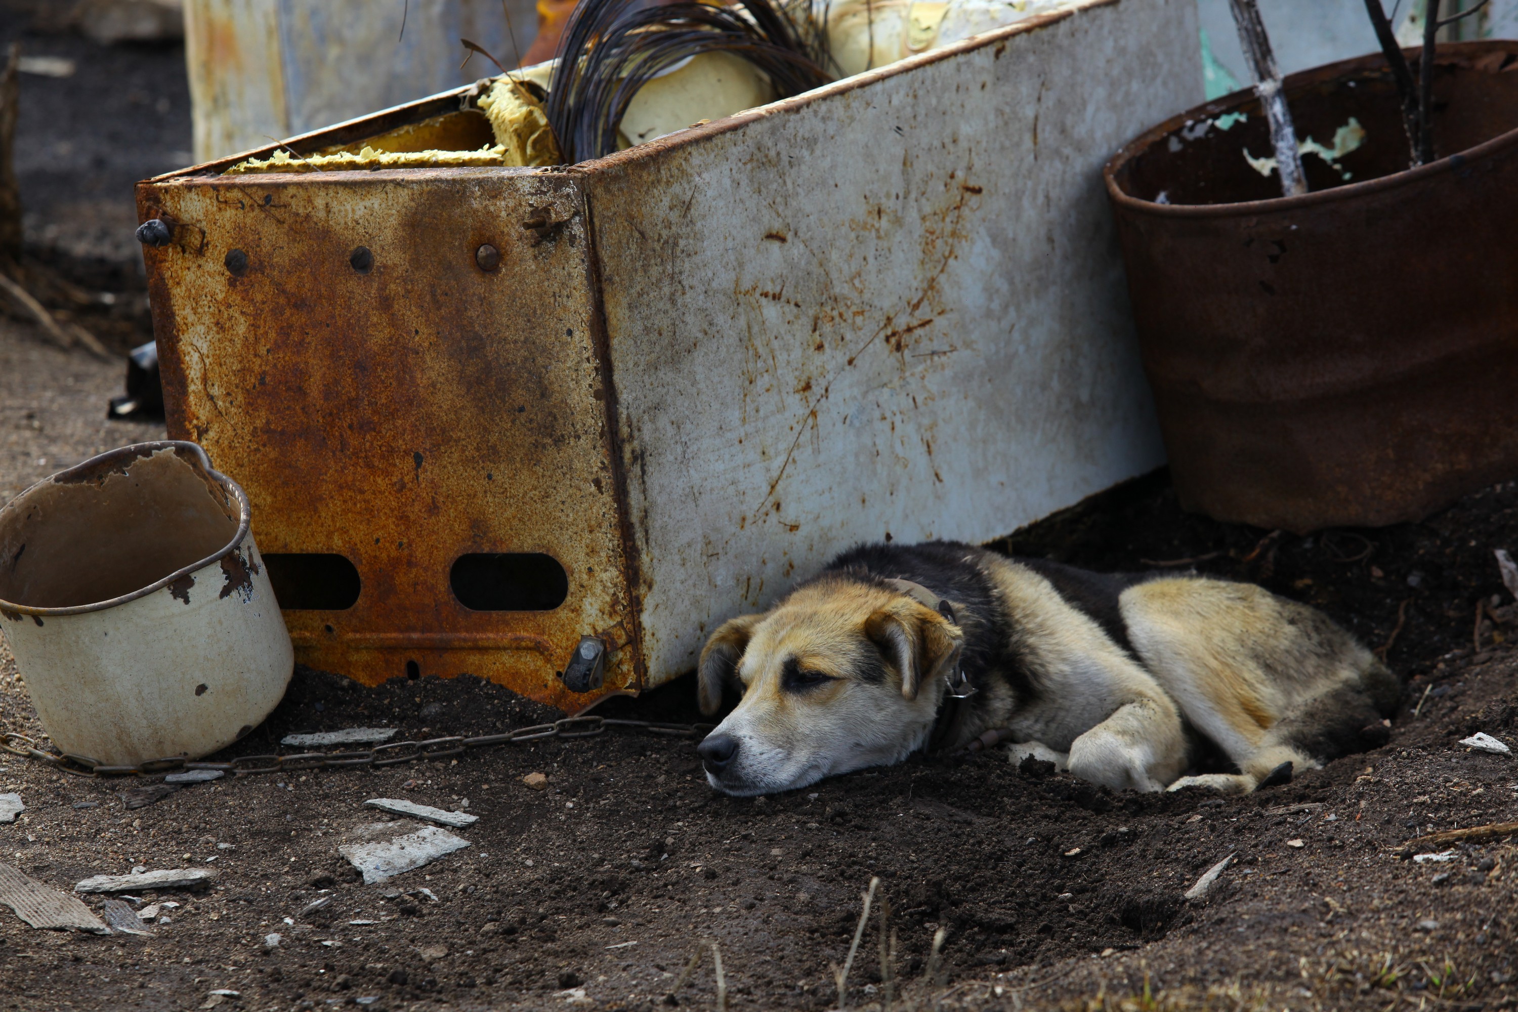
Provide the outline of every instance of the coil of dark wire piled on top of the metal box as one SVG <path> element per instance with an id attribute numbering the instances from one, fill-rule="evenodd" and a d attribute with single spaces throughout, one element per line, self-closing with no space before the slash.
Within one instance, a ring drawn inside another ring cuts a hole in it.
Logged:
<path id="1" fill-rule="evenodd" d="M 679 0 L 580 0 L 559 42 L 548 123 L 572 164 L 616 150 L 616 130 L 648 80 L 701 53 L 733 53 L 786 99 L 832 80 L 818 64 L 821 32 L 798 26 L 776 0 L 716 6 Z"/>

